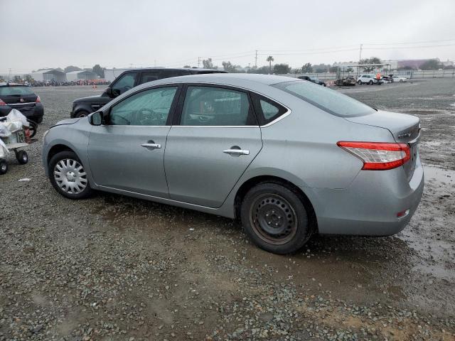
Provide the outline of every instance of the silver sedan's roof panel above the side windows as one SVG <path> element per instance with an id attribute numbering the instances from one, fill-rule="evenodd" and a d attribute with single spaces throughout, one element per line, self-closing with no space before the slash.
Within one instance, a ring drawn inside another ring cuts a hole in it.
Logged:
<path id="1" fill-rule="evenodd" d="M 273 85 L 283 82 L 302 82 L 298 78 L 276 75 L 258 75 L 251 73 L 210 73 L 201 75 L 188 75 L 178 76 L 171 78 L 164 78 L 162 80 L 155 80 L 153 82 L 144 83 L 139 87 L 146 87 L 149 85 L 160 85 L 168 83 L 215 83 L 219 85 L 233 85 L 233 86 L 247 86 L 254 83 L 261 85 Z"/>

